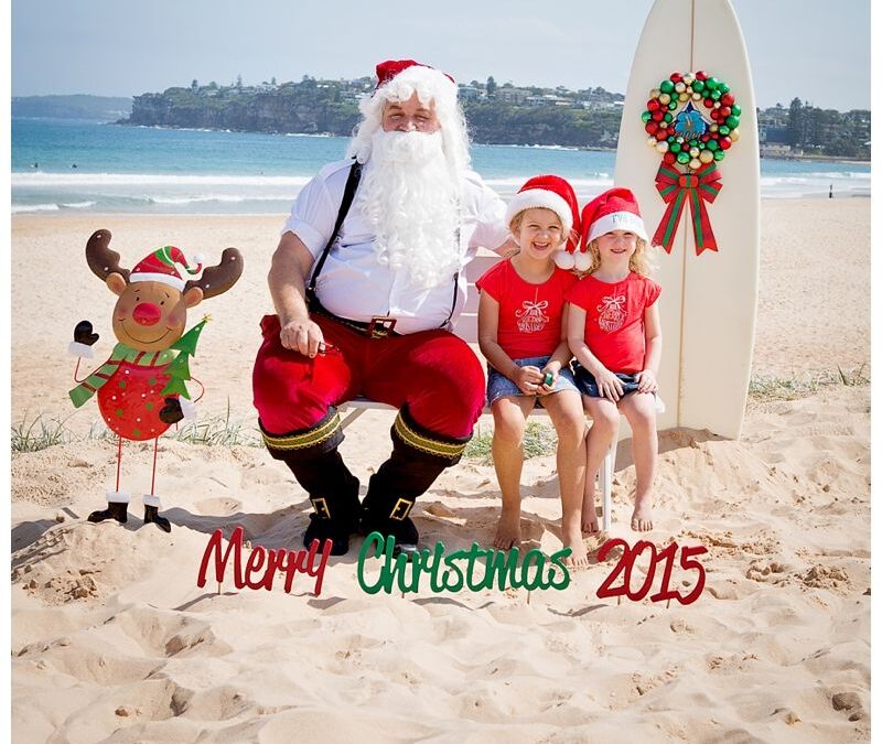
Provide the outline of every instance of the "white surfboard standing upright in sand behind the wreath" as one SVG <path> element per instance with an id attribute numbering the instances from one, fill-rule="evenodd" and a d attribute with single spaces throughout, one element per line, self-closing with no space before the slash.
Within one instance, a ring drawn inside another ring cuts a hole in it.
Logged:
<path id="1" fill-rule="evenodd" d="M 699 71 L 728 84 L 741 115 L 738 141 L 716 163 L 722 187 L 713 203 L 704 202 L 718 250 L 696 255 L 687 206 L 670 254 L 659 250 L 656 256 L 654 278 L 662 284 L 664 343 L 659 387 L 667 407 L 659 414 L 659 429 L 708 429 L 736 439 L 744 418 L 756 322 L 760 145 L 747 54 L 729 0 L 656 0 L 631 68 L 615 184 L 634 192 L 652 237 L 667 208 L 655 184 L 663 154 L 647 144 L 650 134 L 641 117 L 650 91 L 671 73 Z M 692 104 L 706 122 L 717 123 L 703 99 Z M 685 106 L 678 101 L 671 115 L 676 117 Z M 677 168 L 696 173 L 688 164 Z"/>

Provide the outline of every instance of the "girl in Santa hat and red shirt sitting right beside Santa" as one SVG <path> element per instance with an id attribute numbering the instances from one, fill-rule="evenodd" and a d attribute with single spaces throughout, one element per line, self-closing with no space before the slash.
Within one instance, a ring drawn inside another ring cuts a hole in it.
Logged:
<path id="1" fill-rule="evenodd" d="M 584 414 L 569 368 L 566 337 L 568 290 L 577 278 L 555 265 L 559 251 L 578 245 L 579 205 L 572 186 L 556 175 L 527 181 L 508 205 L 506 219 L 520 251 L 499 261 L 477 282 L 477 336 L 487 365 L 493 412 L 493 464 L 503 509 L 493 544 L 520 543 L 520 473 L 524 430 L 535 406 L 544 406 L 558 434 L 557 466 L 563 546 L 570 564 L 588 565 L 582 541 Z"/>

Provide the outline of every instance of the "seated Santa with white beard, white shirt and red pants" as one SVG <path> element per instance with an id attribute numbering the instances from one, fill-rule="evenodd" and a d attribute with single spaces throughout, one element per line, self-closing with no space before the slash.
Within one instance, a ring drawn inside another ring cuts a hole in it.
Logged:
<path id="1" fill-rule="evenodd" d="M 505 204 L 470 169 L 453 79 L 412 60 L 380 63 L 377 77 L 352 159 L 323 168 L 291 208 L 254 369 L 267 449 L 314 509 L 303 542 L 331 540 L 333 554 L 359 529 L 417 549 L 416 499 L 459 462 L 484 405 L 481 364 L 450 333 L 463 269 L 478 247 L 514 248 Z M 336 409 L 358 395 L 399 409 L 361 504 Z"/>

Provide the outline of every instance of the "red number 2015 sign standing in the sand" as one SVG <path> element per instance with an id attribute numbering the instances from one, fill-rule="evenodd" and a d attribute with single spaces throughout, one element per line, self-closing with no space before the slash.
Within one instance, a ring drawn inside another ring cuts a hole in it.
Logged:
<path id="1" fill-rule="evenodd" d="M 619 562 L 613 567 L 610 575 L 604 579 L 603 583 L 598 590 L 598 599 L 605 599 L 610 596 L 626 596 L 628 600 L 639 602 L 643 600 L 653 587 L 653 580 L 655 579 L 655 569 L 658 563 L 664 563 L 664 572 L 662 574 L 662 586 L 659 591 L 649 597 L 650 602 L 664 602 L 665 600 L 676 600 L 680 604 L 691 604 L 695 602 L 704 589 L 704 567 L 696 560 L 696 556 L 701 556 L 708 552 L 703 546 L 684 546 L 680 548 L 676 542 L 671 542 L 663 550 L 657 550 L 656 547 L 647 540 L 638 540 L 634 546 L 630 546 L 622 538 L 615 538 L 604 542 L 598 551 L 598 562 L 602 563 L 606 556 L 610 554 L 615 548 L 622 548 L 623 553 L 619 558 Z M 634 569 L 634 563 L 644 553 L 649 551 L 649 567 L 646 570 L 646 578 L 643 584 L 633 591 L 631 587 L 631 574 Z M 680 551 L 680 568 L 684 571 L 697 571 L 698 579 L 695 589 L 684 596 L 677 590 L 670 589 L 670 575 L 674 572 L 674 563 L 676 561 L 677 551 Z M 619 575 L 622 574 L 622 583 L 619 586 L 613 586 Z"/>

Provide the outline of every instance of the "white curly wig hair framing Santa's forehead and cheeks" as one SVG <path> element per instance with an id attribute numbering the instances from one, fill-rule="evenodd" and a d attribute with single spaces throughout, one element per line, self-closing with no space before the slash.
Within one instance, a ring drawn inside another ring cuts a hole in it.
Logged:
<path id="1" fill-rule="evenodd" d="M 411 61 L 407 61 L 411 62 Z M 378 71 L 380 67 L 378 66 Z M 388 103 L 404 103 L 417 94 L 420 103 L 434 107 L 441 125 L 444 158 L 453 173 L 460 175 L 471 162 L 465 116 L 456 99 L 456 84 L 444 73 L 419 63 L 394 73 L 388 79 L 380 75 L 377 89 L 358 105 L 362 122 L 355 130 L 348 155 L 359 163 L 370 157 L 374 134 L 383 128 L 383 111 Z"/>

